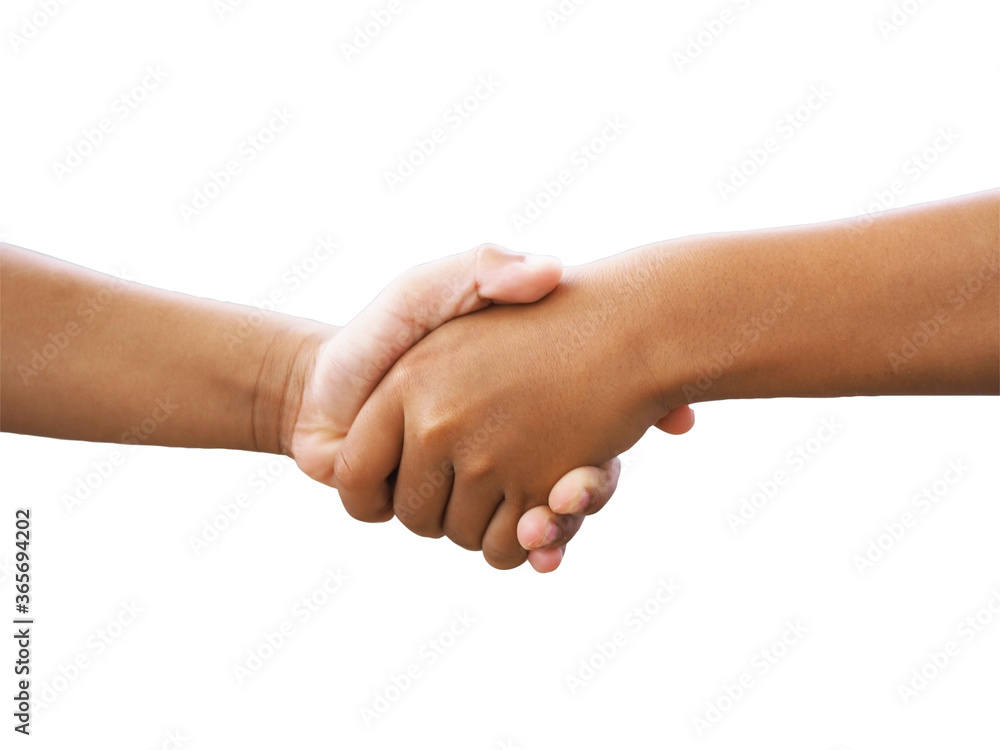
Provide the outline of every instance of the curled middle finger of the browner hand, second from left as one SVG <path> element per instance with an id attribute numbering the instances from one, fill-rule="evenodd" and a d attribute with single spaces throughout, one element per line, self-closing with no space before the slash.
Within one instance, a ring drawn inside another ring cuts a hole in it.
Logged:
<path id="1" fill-rule="evenodd" d="M 392 508 L 403 525 L 419 536 L 444 536 L 444 511 L 455 469 L 435 458 L 418 438 L 404 440 Z"/>

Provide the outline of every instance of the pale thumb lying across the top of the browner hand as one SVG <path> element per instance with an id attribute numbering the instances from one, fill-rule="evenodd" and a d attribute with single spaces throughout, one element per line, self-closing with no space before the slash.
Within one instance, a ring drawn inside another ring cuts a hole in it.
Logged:
<path id="1" fill-rule="evenodd" d="M 375 386 L 410 347 L 452 318 L 492 302 L 535 302 L 562 278 L 557 258 L 480 245 L 412 268 L 389 284 L 330 342 L 350 393 L 331 416 L 350 424 Z"/>

